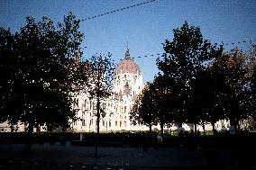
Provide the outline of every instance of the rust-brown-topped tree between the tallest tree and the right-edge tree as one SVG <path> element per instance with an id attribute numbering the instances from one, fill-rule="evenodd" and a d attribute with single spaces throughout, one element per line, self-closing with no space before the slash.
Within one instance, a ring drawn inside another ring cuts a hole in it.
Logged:
<path id="1" fill-rule="evenodd" d="M 224 108 L 225 117 L 230 120 L 231 125 L 238 131 L 239 121 L 246 118 L 250 103 L 247 92 L 248 70 L 246 69 L 245 55 L 240 49 L 232 49 L 215 59 L 214 69 L 219 76 L 223 77 L 223 98 L 220 98 Z"/>

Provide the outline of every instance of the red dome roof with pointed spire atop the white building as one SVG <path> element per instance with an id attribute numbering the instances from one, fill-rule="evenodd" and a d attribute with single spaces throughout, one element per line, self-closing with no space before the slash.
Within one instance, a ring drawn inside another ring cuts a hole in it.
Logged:
<path id="1" fill-rule="evenodd" d="M 141 74 L 140 67 L 130 58 L 129 49 L 125 52 L 125 58 L 118 64 L 115 69 L 115 74 L 120 73 L 133 73 L 133 74 Z"/>

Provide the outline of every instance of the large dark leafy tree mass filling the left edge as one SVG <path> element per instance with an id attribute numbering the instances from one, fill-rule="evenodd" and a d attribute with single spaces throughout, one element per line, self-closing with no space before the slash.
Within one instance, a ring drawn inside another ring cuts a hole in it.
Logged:
<path id="1" fill-rule="evenodd" d="M 14 34 L 0 28 L 0 121 L 22 121 L 30 133 L 39 125 L 69 128 L 75 117 L 73 87 L 87 82 L 85 76 L 80 79 L 81 68 L 73 59 L 81 55 L 83 33 L 78 28 L 72 13 L 57 26 L 47 17 L 41 22 L 27 17 L 26 25 Z"/>

